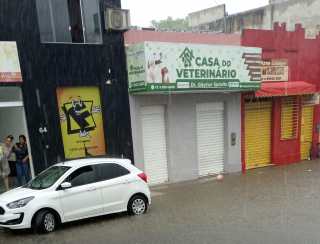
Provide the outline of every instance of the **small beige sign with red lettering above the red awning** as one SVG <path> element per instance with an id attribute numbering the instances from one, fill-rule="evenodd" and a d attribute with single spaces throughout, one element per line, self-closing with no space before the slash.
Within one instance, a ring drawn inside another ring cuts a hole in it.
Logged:
<path id="1" fill-rule="evenodd" d="M 262 61 L 262 81 L 288 81 L 289 67 L 287 59 Z"/>

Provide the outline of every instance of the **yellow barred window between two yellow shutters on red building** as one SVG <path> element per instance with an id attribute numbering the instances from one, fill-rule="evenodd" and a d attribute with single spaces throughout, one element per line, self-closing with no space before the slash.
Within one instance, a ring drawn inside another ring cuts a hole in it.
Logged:
<path id="1" fill-rule="evenodd" d="M 297 138 L 299 104 L 297 97 L 281 99 L 281 140 Z"/>

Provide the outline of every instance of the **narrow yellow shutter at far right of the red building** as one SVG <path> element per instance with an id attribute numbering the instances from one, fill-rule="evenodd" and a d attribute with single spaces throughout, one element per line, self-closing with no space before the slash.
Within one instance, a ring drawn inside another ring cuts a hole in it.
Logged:
<path id="1" fill-rule="evenodd" d="M 300 139 L 301 160 L 306 160 L 310 158 L 310 151 L 312 148 L 314 104 L 310 103 L 309 100 L 310 97 L 308 96 L 303 97 L 302 100 Z"/>

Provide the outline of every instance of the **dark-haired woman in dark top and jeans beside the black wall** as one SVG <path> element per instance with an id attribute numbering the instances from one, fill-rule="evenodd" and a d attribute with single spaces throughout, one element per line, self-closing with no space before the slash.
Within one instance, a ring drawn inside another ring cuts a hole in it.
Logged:
<path id="1" fill-rule="evenodd" d="M 16 154 L 16 170 L 18 183 L 20 186 L 22 186 L 30 180 L 29 153 L 27 139 L 24 135 L 19 136 L 19 143 L 14 146 L 13 151 Z"/>

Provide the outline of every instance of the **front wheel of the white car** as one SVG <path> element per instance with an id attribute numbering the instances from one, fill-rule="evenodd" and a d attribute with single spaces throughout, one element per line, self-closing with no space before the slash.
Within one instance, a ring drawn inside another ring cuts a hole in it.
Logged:
<path id="1" fill-rule="evenodd" d="M 37 233 L 50 233 L 56 229 L 57 219 L 49 210 L 41 210 L 34 219 L 33 229 Z"/>

